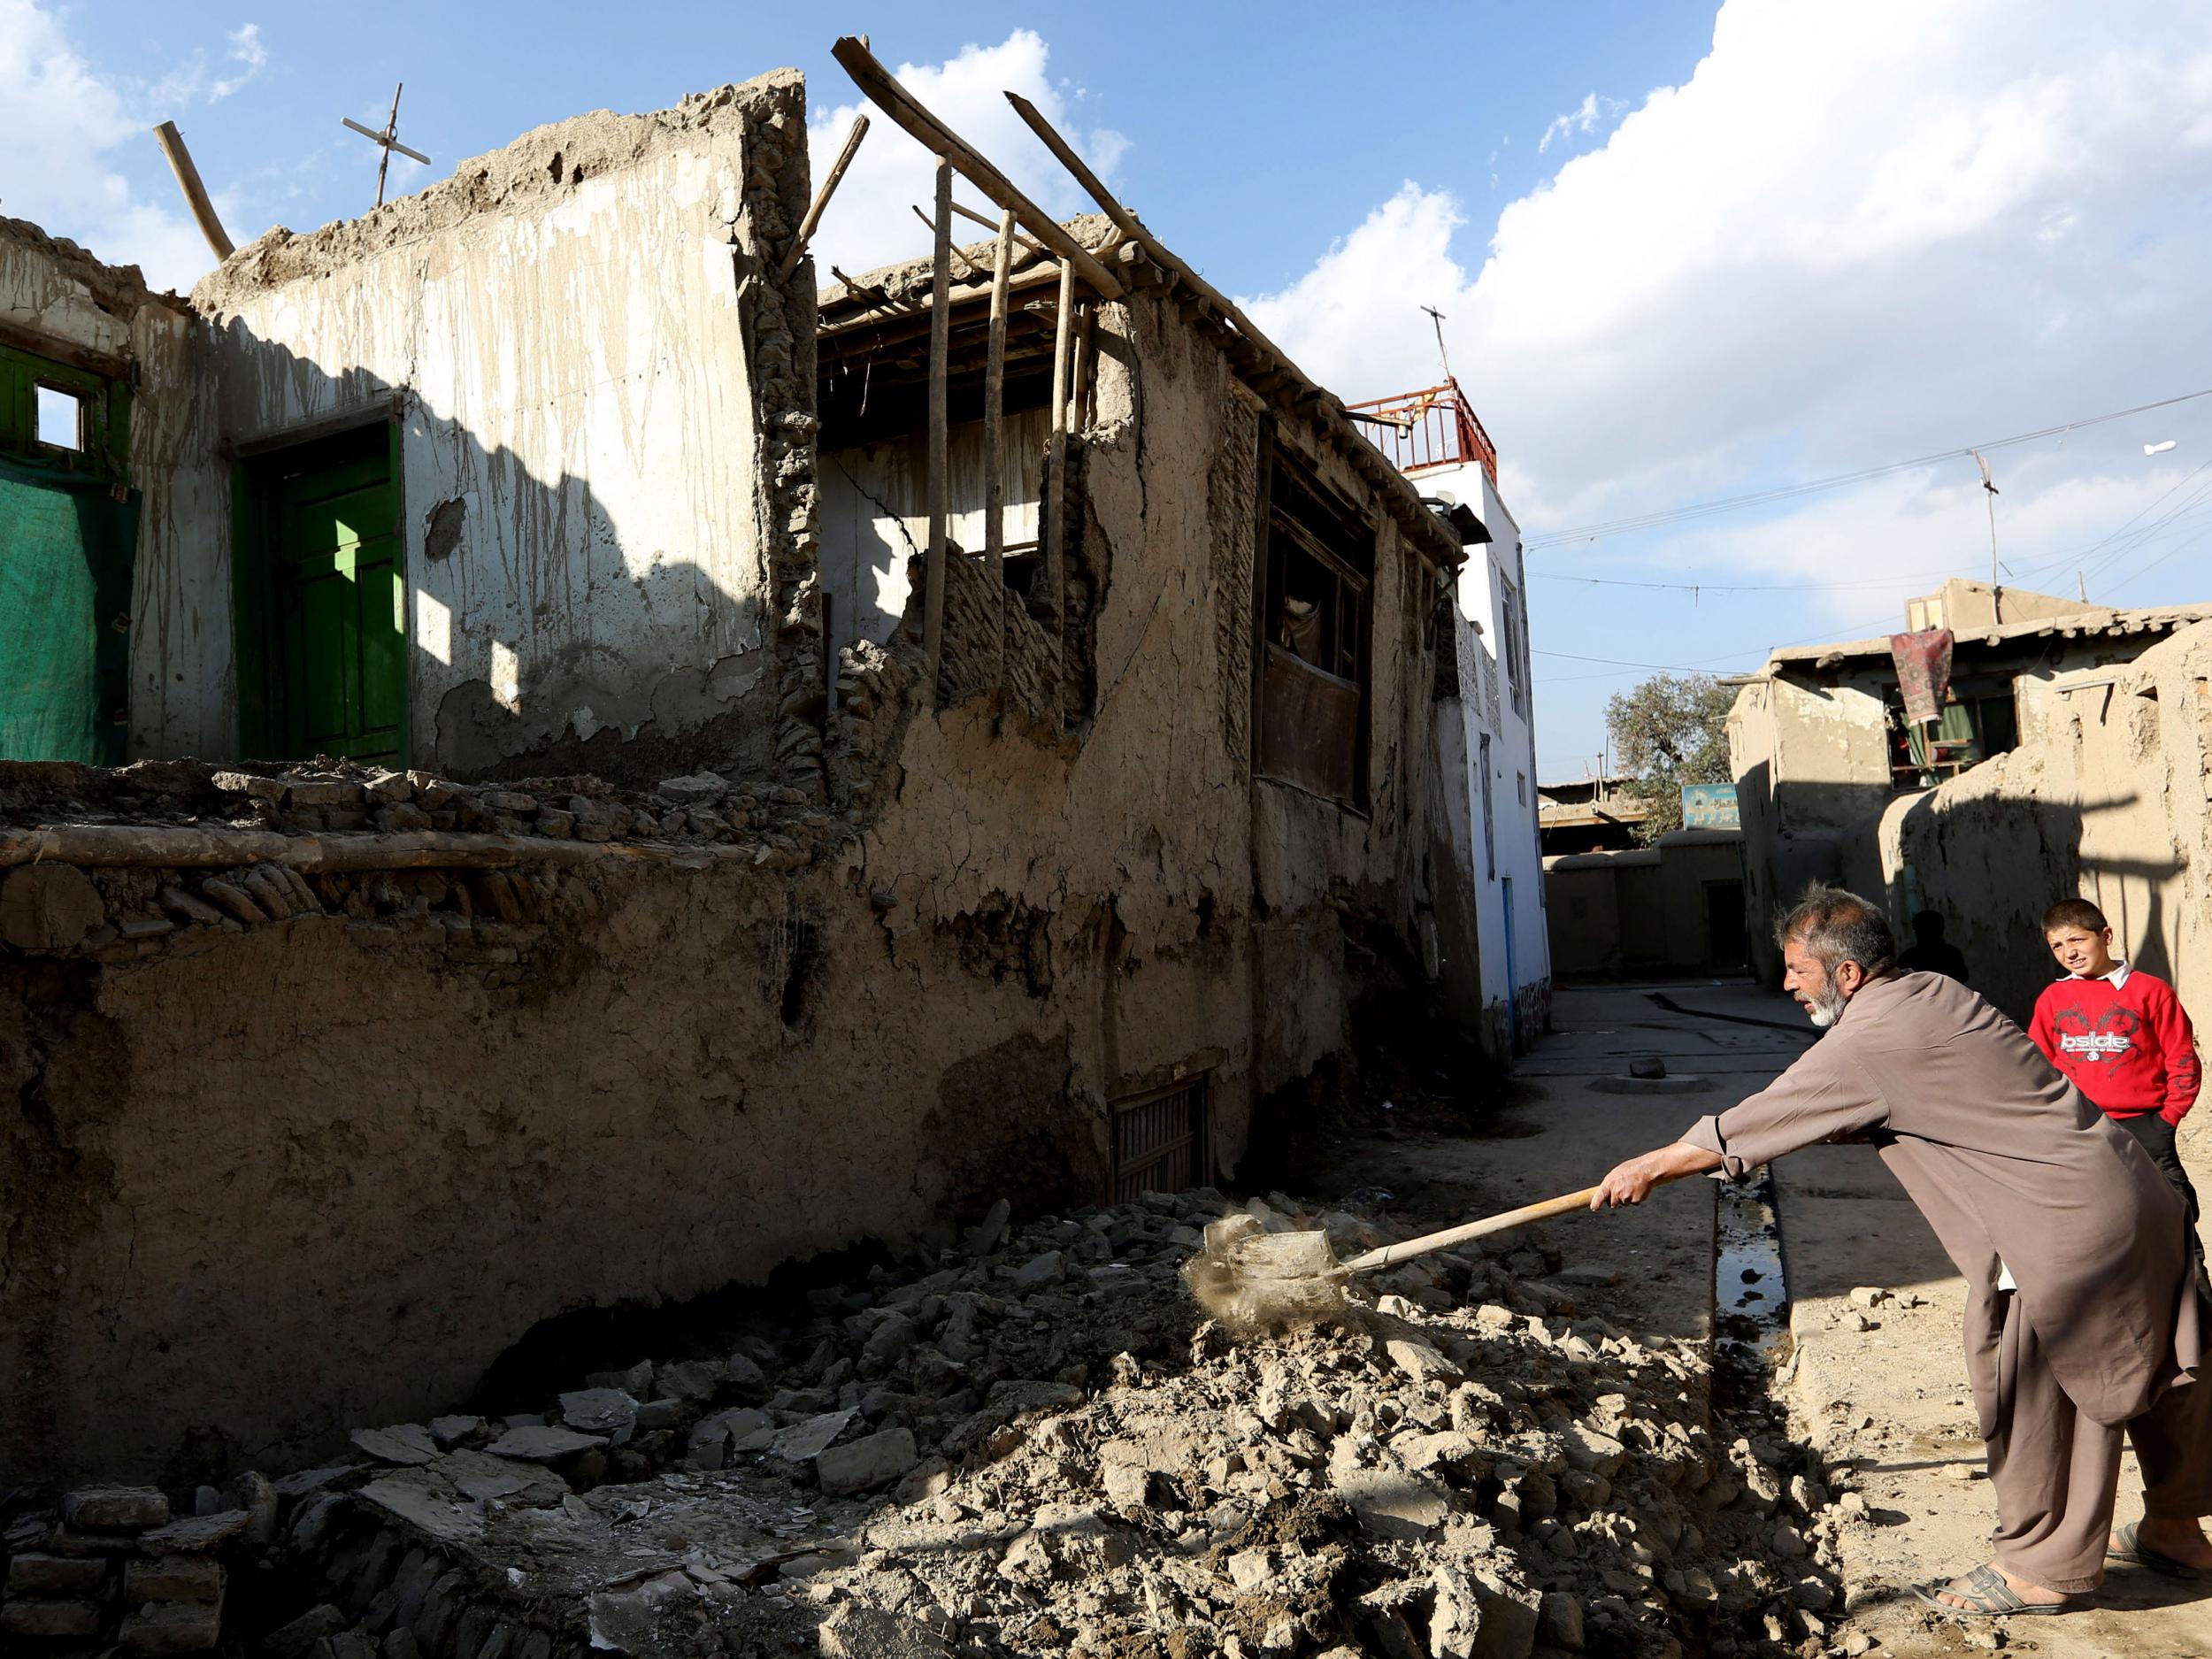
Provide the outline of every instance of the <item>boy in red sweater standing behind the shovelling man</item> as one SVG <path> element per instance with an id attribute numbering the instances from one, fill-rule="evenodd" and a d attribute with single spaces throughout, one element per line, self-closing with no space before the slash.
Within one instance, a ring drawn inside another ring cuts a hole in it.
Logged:
<path id="1" fill-rule="evenodd" d="M 2197 1033 L 2166 980 L 2112 960 L 2112 927 L 2086 898 L 2044 911 L 2044 940 L 2068 978 L 2035 998 L 2028 1035 L 2106 1117 L 2141 1141 L 2190 1206 L 2197 1188 L 2174 1128 L 2197 1104 Z"/>

